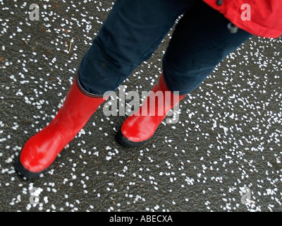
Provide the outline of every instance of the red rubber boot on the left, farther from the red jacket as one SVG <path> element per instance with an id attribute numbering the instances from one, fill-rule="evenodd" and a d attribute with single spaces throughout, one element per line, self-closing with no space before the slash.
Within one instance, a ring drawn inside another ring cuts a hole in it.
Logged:
<path id="1" fill-rule="evenodd" d="M 102 96 L 82 90 L 76 76 L 56 117 L 25 143 L 16 162 L 16 171 L 27 179 L 38 177 L 75 138 L 103 102 Z"/>

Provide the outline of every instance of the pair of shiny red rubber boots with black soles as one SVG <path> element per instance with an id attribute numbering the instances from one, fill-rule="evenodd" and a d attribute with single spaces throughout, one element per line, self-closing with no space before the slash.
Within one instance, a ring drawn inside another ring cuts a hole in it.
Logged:
<path id="1" fill-rule="evenodd" d="M 184 97 L 168 90 L 163 75 L 152 91 L 142 106 L 125 119 L 121 130 L 116 133 L 118 143 L 125 147 L 142 145 L 151 138 L 169 110 Z M 157 92 L 166 93 L 163 95 L 164 100 L 153 98 Z M 85 92 L 76 76 L 56 117 L 25 143 L 16 161 L 16 172 L 27 179 L 39 177 L 104 101 L 103 96 Z"/>

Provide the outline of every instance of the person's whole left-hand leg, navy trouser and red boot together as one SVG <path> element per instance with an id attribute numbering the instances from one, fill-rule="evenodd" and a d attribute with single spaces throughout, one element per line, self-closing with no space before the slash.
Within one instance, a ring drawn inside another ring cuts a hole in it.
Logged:
<path id="1" fill-rule="evenodd" d="M 194 0 L 118 0 L 80 64 L 63 107 L 21 151 L 16 171 L 38 177 L 87 123 L 106 91 L 115 90 L 157 49 Z"/>

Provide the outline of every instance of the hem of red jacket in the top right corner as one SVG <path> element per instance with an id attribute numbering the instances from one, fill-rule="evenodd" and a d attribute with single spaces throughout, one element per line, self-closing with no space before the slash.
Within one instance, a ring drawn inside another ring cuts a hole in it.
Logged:
<path id="1" fill-rule="evenodd" d="M 238 28 L 261 37 L 282 34 L 282 0 L 203 0 Z"/>

